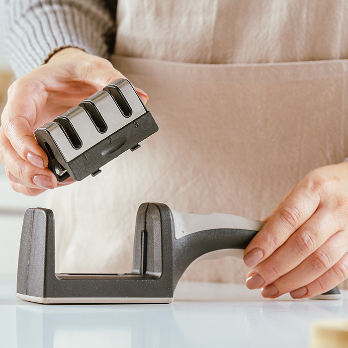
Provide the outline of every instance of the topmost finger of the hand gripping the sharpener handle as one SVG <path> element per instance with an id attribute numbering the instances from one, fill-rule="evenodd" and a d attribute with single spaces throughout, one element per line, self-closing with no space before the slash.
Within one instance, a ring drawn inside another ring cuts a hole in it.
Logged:
<path id="1" fill-rule="evenodd" d="M 271 255 L 314 214 L 319 203 L 317 192 L 309 194 L 304 183 L 296 186 L 246 248 L 245 264 L 252 267 Z"/>

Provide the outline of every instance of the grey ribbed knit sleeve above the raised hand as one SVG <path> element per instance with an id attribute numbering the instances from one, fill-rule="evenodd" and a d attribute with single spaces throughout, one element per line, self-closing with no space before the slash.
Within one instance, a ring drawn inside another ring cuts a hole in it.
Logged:
<path id="1" fill-rule="evenodd" d="M 113 9 L 112 0 L 6 0 L 5 45 L 16 77 L 64 47 L 107 57 Z"/>

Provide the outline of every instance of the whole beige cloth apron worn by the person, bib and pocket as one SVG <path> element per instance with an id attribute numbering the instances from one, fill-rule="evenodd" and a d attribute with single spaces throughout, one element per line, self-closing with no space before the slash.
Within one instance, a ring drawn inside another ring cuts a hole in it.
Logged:
<path id="1" fill-rule="evenodd" d="M 50 192 L 57 271 L 129 272 L 143 202 L 262 219 L 309 171 L 343 161 L 347 11 L 343 0 L 119 0 L 112 63 L 149 94 L 160 130 Z M 224 258 L 184 278 L 246 273 Z"/>

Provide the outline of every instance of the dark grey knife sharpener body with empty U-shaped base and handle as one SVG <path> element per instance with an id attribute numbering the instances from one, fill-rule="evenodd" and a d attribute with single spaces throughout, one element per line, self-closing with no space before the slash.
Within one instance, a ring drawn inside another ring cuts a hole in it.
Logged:
<path id="1" fill-rule="evenodd" d="M 202 259 L 243 258 L 263 223 L 240 216 L 187 214 L 162 203 L 143 203 L 136 220 L 129 274 L 55 272 L 54 215 L 30 208 L 24 215 L 17 292 L 22 300 L 56 303 L 170 303 L 184 271 Z M 321 295 L 340 298 L 338 288 Z"/>

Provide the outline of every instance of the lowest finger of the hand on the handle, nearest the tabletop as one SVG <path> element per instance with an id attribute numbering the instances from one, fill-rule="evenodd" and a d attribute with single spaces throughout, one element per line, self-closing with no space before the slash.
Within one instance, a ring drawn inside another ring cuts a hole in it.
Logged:
<path id="1" fill-rule="evenodd" d="M 290 292 L 293 298 L 312 297 L 327 291 L 330 291 L 335 286 L 348 278 L 348 254 L 340 261 L 331 267 L 322 276 L 309 283 L 306 286 L 300 287 Z"/>

